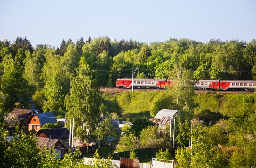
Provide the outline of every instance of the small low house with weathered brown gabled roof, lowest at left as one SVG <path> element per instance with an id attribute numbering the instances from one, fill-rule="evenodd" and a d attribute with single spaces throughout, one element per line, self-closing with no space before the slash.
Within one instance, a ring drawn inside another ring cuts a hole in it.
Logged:
<path id="1" fill-rule="evenodd" d="M 50 149 L 49 138 L 38 137 L 37 140 L 37 145 L 39 148 L 44 148 L 46 146 L 47 149 Z M 51 147 L 54 147 L 53 149 L 56 151 L 56 153 L 58 153 L 57 158 L 62 158 L 64 156 L 65 146 L 60 140 L 51 138 Z"/>

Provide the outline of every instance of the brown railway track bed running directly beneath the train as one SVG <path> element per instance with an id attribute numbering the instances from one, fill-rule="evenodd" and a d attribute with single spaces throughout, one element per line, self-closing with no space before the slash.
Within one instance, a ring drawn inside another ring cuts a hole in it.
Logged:
<path id="1" fill-rule="evenodd" d="M 122 92 L 129 92 L 132 91 L 130 88 L 107 88 L 108 93 L 122 93 Z M 100 87 L 101 92 L 106 91 L 106 87 Z M 140 91 L 140 92 L 153 92 L 153 91 L 164 91 L 164 89 L 134 89 L 134 91 Z M 252 94 L 254 92 L 252 91 L 226 91 L 226 90 L 195 90 L 196 93 L 246 93 L 246 94 Z"/>

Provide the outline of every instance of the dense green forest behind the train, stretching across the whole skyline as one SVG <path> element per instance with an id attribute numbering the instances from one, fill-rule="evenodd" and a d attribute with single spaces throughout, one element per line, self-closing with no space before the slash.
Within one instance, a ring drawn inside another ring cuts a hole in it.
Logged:
<path id="1" fill-rule="evenodd" d="M 140 78 L 167 78 L 174 64 L 192 70 L 196 79 L 256 78 L 256 45 L 251 42 L 212 39 L 207 43 L 170 38 L 149 45 L 135 40 L 111 41 L 109 37 L 63 41 L 60 47 L 33 47 L 17 37 L 12 44 L 0 41 L 1 111 L 29 106 L 64 111 L 64 98 L 81 61 L 94 72 L 98 86 L 114 86 L 119 77 L 132 77 L 132 66 L 140 67 Z M 18 99 L 19 98 L 19 99 Z"/>

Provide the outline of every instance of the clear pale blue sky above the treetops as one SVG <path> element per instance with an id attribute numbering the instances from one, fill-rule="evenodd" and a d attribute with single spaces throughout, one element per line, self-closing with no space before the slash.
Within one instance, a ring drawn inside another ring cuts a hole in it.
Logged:
<path id="1" fill-rule="evenodd" d="M 34 47 L 89 35 L 148 44 L 256 38 L 255 0 L 0 0 L 0 16 L 0 40 L 26 36 Z"/>

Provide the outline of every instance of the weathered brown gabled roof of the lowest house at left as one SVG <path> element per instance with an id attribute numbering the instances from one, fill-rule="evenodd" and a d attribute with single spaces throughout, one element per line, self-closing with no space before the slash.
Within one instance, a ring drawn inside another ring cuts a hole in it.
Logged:
<path id="1" fill-rule="evenodd" d="M 50 144 L 49 144 L 49 138 L 42 138 L 42 137 L 38 137 L 37 138 L 38 142 L 37 145 L 39 148 L 44 148 L 44 146 L 47 147 L 47 149 L 50 148 Z M 60 140 L 57 139 L 51 139 L 51 146 L 54 146 L 54 149 L 65 149 L 65 146 L 63 145 L 63 143 L 61 143 Z"/>

